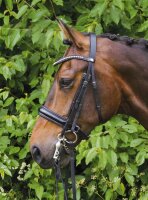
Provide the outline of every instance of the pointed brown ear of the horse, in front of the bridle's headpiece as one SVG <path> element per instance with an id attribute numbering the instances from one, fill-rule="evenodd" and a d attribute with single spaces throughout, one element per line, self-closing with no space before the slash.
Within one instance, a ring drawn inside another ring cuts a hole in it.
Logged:
<path id="1" fill-rule="evenodd" d="M 86 48 L 89 46 L 89 39 L 81 32 L 76 31 L 75 29 L 69 27 L 62 20 L 58 19 L 58 25 L 62 32 L 64 33 L 64 39 L 69 40 L 75 44 L 78 48 Z"/>

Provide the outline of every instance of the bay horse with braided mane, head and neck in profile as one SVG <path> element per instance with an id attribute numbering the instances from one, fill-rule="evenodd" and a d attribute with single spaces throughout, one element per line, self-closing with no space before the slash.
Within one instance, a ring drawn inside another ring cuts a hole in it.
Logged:
<path id="1" fill-rule="evenodd" d="M 96 87 L 89 83 L 81 95 L 83 101 L 79 102 L 79 113 L 77 117 L 74 115 L 77 119 L 75 130 L 65 130 L 65 140 L 77 145 L 83 139 L 80 138 L 81 133 L 87 137 L 96 125 L 118 113 L 135 117 L 148 129 L 148 41 L 102 34 L 91 46 L 90 34 L 78 32 L 61 20 L 58 23 L 69 48 L 64 57 L 55 63 L 61 66 L 30 139 L 33 159 L 42 168 L 54 165 L 59 135 L 67 125 L 69 110 L 74 106 L 73 99 L 75 104 L 79 99 L 78 93 L 85 82 L 83 79 L 89 65 L 90 70 L 94 67 L 92 77 Z M 96 55 L 92 57 L 90 49 L 94 46 Z M 96 93 L 98 97 L 95 98 Z M 78 132 L 79 135 L 76 134 Z M 69 157 L 66 148 L 62 148 L 61 166 L 69 163 Z"/>

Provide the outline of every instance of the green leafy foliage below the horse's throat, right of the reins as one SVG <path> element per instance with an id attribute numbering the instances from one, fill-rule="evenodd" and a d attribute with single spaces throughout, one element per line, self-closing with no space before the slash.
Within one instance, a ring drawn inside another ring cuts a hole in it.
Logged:
<path id="1" fill-rule="evenodd" d="M 147 199 L 147 139 L 148 132 L 131 117 L 115 116 L 96 127 L 77 147 L 77 164 L 88 165 L 81 195 L 85 197 L 91 183 L 97 190 L 88 199 Z"/>

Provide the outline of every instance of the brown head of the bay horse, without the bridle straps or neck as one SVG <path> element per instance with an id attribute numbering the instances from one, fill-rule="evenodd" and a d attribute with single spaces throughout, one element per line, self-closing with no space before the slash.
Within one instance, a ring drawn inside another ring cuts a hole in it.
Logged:
<path id="1" fill-rule="evenodd" d="M 83 58 L 90 57 L 89 35 L 68 27 L 62 21 L 59 21 L 59 25 L 66 37 L 65 41 L 69 44 L 69 48 L 65 52 L 64 57 L 70 58 L 70 56 L 75 55 L 80 58 L 81 56 Z M 119 71 L 121 65 L 129 65 L 129 60 L 125 62 L 125 53 L 123 53 L 126 47 L 120 48 L 123 45 L 122 43 L 116 43 L 105 37 L 97 37 L 96 39 L 96 56 L 93 65 L 102 116 L 98 116 L 93 86 L 89 83 L 83 101 L 81 102 L 82 105 L 76 122 L 80 129 L 87 135 L 89 135 L 96 125 L 107 121 L 116 114 L 122 107 L 121 103 L 124 102 L 126 107 L 123 93 L 124 96 L 128 96 L 129 89 L 131 88 L 127 87 L 124 82 L 124 77 L 120 76 Z M 60 116 L 60 120 L 66 120 L 73 99 L 75 99 L 80 88 L 84 72 L 88 68 L 88 61 L 73 58 L 60 60 L 58 63 L 61 63 L 61 66 L 55 75 L 52 88 L 44 106 L 47 110 L 56 113 L 57 117 Z M 131 97 L 131 93 L 129 97 Z M 52 112 L 50 112 L 50 115 Z M 30 139 L 30 149 L 34 160 L 42 168 L 50 168 L 53 166 L 56 144 L 62 131 L 63 127 L 54 123 L 52 120 L 46 120 L 42 117 L 38 118 Z M 75 134 L 68 131 L 66 138 L 69 141 L 74 141 Z M 77 141 L 77 144 L 79 142 L 80 140 Z M 60 152 L 61 166 L 67 165 L 68 162 L 69 153 L 63 148 Z"/>

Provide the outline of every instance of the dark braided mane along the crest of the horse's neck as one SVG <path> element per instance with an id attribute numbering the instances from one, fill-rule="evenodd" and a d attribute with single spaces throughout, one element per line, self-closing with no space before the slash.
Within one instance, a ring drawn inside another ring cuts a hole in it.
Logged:
<path id="1" fill-rule="evenodd" d="M 130 38 L 128 36 L 120 36 L 119 34 L 111 34 L 111 33 L 105 33 L 105 34 L 101 34 L 98 35 L 98 37 L 102 37 L 102 38 L 108 38 L 110 40 L 114 40 L 114 41 L 121 41 L 121 42 L 125 42 L 125 44 L 127 45 L 139 45 L 140 47 L 144 47 L 146 49 L 148 49 L 148 40 L 145 40 L 143 38 L 140 39 L 134 39 L 134 38 Z"/>

